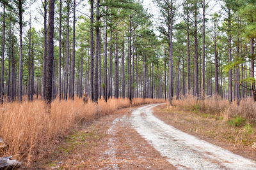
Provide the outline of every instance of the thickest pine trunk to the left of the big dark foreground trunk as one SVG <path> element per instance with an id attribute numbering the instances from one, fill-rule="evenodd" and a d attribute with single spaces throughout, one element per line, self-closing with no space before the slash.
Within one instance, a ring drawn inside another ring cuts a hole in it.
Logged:
<path id="1" fill-rule="evenodd" d="M 19 49 L 19 86 L 18 86 L 18 98 L 22 101 L 22 0 L 19 0 L 19 31 L 20 31 L 20 49 Z"/>

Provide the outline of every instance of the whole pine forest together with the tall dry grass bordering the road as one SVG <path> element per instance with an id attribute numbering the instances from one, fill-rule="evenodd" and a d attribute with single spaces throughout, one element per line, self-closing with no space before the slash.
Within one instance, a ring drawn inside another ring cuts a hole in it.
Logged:
<path id="1" fill-rule="evenodd" d="M 256 118 L 256 1 L 150 3 L 154 9 L 140 0 L 1 0 L 0 137 L 12 143 L 6 153 L 33 162 L 45 133 L 49 142 L 100 111 L 147 103 L 184 108 L 193 99 L 212 114 L 232 107 Z M 14 130 L 21 127 L 23 139 Z"/>

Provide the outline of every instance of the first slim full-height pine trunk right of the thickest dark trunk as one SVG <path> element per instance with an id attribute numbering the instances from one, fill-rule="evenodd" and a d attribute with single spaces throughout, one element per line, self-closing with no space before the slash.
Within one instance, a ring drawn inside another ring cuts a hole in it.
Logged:
<path id="1" fill-rule="evenodd" d="M 62 0 L 60 0 L 60 18 L 59 18 L 59 101 L 61 101 L 61 21 L 62 21 Z"/>

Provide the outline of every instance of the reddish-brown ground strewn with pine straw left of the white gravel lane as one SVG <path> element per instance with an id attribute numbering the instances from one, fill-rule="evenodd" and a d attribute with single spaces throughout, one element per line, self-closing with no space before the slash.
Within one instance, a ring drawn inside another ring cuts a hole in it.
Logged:
<path id="1" fill-rule="evenodd" d="M 136 108 L 118 110 L 95 120 L 33 166 L 36 169 L 175 169 L 127 121 Z"/>

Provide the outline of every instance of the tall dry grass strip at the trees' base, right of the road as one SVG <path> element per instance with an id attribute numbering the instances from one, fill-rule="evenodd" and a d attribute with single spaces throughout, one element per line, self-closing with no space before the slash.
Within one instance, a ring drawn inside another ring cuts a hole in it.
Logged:
<path id="1" fill-rule="evenodd" d="M 220 115 L 225 119 L 239 116 L 250 122 L 256 122 L 256 103 L 252 98 L 241 99 L 239 104 L 237 102 L 230 104 L 228 100 L 221 99 L 219 96 L 212 96 L 204 101 L 197 97 L 186 96 L 180 100 L 173 99 L 173 106 L 196 113 Z"/>

